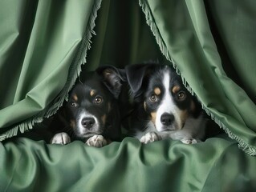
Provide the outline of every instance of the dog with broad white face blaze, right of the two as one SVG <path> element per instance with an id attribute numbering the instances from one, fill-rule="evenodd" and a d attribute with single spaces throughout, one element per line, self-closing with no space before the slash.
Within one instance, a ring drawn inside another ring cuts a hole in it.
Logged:
<path id="1" fill-rule="evenodd" d="M 125 67 L 134 110 L 130 135 L 148 143 L 172 138 L 200 142 L 205 135 L 205 115 L 169 65 L 154 62 Z"/>

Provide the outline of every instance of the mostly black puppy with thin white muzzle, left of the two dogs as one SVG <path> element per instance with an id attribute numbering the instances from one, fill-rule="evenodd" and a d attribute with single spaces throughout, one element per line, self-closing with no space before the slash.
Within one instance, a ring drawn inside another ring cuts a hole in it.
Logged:
<path id="1" fill-rule="evenodd" d="M 104 66 L 80 76 L 58 114 L 57 121 L 63 125 L 57 128 L 51 144 L 80 140 L 88 146 L 101 147 L 119 141 L 118 98 L 122 85 L 118 70 Z"/>

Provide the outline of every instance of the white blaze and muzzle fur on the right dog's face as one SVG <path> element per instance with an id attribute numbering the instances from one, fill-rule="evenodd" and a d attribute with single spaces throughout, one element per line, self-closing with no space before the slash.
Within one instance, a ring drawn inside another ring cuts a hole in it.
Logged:
<path id="1" fill-rule="evenodd" d="M 163 78 L 164 85 L 164 96 L 161 100 L 160 106 L 156 110 L 156 130 L 162 131 L 165 129 L 178 130 L 181 129 L 181 110 L 175 105 L 173 102 L 173 96 L 171 94 L 170 87 L 170 75 L 169 72 L 166 71 Z M 166 127 L 161 123 L 161 115 L 162 114 L 173 114 L 174 121 L 173 123 Z"/>

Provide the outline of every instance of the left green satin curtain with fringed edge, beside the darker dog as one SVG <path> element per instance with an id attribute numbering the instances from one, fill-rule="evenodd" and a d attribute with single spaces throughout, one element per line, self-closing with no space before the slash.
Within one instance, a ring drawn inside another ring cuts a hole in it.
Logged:
<path id="1" fill-rule="evenodd" d="M 0 141 L 62 104 L 85 62 L 99 6 L 98 0 L 1 2 Z"/>

